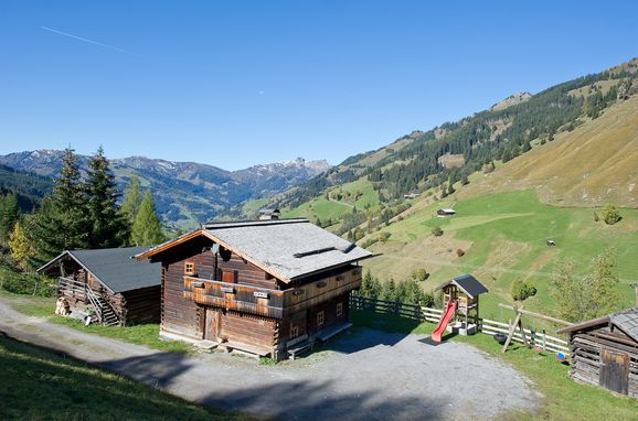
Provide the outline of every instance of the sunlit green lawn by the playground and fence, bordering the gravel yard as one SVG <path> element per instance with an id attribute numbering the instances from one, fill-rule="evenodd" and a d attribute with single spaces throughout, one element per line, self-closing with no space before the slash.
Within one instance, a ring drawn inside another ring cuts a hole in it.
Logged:
<path id="1" fill-rule="evenodd" d="M 429 334 L 432 323 L 416 323 L 403 317 L 351 311 L 355 326 L 373 327 L 406 334 Z M 455 336 L 454 342 L 466 343 L 511 365 L 534 381 L 545 399 L 535 412 L 507 414 L 512 420 L 632 420 L 638 414 L 638 400 L 614 396 L 604 389 L 579 385 L 567 377 L 568 367 L 559 364 L 552 353 L 536 354 L 514 343 L 506 354 L 490 335 Z M 471 368 L 468 367 L 468 373 Z M 477 374 L 479 375 L 479 374 Z"/>

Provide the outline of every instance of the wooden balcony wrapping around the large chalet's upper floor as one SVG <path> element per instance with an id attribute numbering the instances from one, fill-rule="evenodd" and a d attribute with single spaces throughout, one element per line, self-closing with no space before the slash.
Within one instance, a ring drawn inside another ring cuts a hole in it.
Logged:
<path id="1" fill-rule="evenodd" d="M 198 304 L 233 310 L 272 319 L 284 319 L 307 307 L 331 300 L 361 285 L 361 268 L 322 278 L 288 290 L 270 290 L 184 277 L 184 296 Z"/>

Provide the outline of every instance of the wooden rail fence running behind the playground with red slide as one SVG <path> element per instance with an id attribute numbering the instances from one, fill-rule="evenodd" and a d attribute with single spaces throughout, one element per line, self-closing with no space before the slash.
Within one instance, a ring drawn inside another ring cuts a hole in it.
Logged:
<path id="1" fill-rule="evenodd" d="M 404 304 L 394 301 L 375 300 L 355 294 L 350 295 L 350 309 L 368 311 L 378 314 L 396 315 L 418 322 L 430 323 L 438 323 L 443 316 L 443 310 L 424 307 L 417 304 Z M 486 335 L 495 335 L 497 333 L 507 335 L 511 328 L 510 323 L 497 322 L 489 319 L 479 319 L 478 328 L 479 332 L 485 333 Z M 566 341 L 547 335 L 544 330 L 541 332 L 534 332 L 525 328 L 524 332 L 528 341 L 530 341 L 534 347 L 542 348 L 543 350 L 550 350 L 554 353 L 560 352 L 564 354 L 567 354 L 570 350 Z M 518 326 L 514 331 L 512 341 L 520 343 L 523 342 L 521 330 Z"/>

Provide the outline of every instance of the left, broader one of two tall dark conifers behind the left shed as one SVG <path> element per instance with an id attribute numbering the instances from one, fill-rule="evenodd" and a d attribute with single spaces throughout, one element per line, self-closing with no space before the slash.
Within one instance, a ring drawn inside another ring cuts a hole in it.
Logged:
<path id="1" fill-rule="evenodd" d="M 28 226 L 28 237 L 38 251 L 38 261 L 52 259 L 64 250 L 88 247 L 88 218 L 84 186 L 72 149 L 64 151 L 62 170 Z"/>

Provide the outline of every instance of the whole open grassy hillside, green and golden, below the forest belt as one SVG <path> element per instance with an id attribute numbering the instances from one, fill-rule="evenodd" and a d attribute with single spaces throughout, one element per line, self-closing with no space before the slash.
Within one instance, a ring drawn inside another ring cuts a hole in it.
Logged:
<path id="1" fill-rule="evenodd" d="M 364 265 L 385 279 L 402 279 L 424 267 L 432 272 L 426 289 L 472 272 L 491 290 L 481 313 L 503 319 L 497 303 L 511 301 L 514 279 L 530 279 L 539 289 L 529 307 L 551 312 L 549 280 L 555 263 L 573 258 L 585 270 L 593 257 L 616 247 L 624 279 L 619 306 L 629 306 L 634 295 L 627 283 L 638 278 L 636 183 L 638 97 L 498 165 L 491 174 L 474 174 L 470 184 L 453 196 L 384 228 L 391 233 L 390 240 L 372 247 L 384 256 Z M 624 219 L 616 226 L 595 224 L 593 212 L 599 213 L 599 208 L 585 207 L 607 202 L 630 206 L 621 210 Z M 433 216 L 437 208 L 448 206 L 458 214 L 447 219 Z M 430 235 L 436 225 L 444 229 L 443 237 Z M 546 238 L 555 239 L 557 247 L 547 248 Z M 466 256 L 458 258 L 458 248 Z"/>

